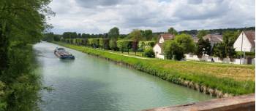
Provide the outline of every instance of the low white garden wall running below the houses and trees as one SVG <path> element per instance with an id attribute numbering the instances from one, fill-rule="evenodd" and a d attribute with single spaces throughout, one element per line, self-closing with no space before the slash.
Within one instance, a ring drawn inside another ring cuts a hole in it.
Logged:
<path id="1" fill-rule="evenodd" d="M 240 65 L 240 59 L 233 59 L 233 62 L 231 62 L 229 58 L 220 59 L 219 57 L 211 57 L 208 55 L 204 55 L 202 58 L 198 58 L 197 55 L 194 54 L 185 54 L 185 56 L 187 60 L 211 62 L 211 58 L 213 58 L 214 62 Z M 247 65 L 247 59 L 241 59 L 241 63 Z M 252 59 L 252 65 L 255 65 L 255 58 Z"/>

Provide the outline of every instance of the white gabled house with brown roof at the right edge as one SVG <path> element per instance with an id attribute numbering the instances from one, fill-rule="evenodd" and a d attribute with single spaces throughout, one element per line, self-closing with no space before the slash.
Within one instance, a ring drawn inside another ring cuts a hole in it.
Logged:
<path id="1" fill-rule="evenodd" d="M 236 52 L 255 52 L 255 31 L 242 31 L 233 47 L 236 49 Z"/>

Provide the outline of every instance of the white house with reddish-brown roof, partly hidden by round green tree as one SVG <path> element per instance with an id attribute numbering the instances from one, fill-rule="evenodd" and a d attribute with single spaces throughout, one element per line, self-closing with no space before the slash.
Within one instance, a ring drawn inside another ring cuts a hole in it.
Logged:
<path id="1" fill-rule="evenodd" d="M 154 45 L 153 50 L 155 57 L 159 59 L 165 59 L 164 52 L 162 49 L 162 45 L 165 41 L 173 39 L 175 36 L 169 33 L 161 34 L 159 35 L 159 39 L 157 41 L 157 44 Z"/>

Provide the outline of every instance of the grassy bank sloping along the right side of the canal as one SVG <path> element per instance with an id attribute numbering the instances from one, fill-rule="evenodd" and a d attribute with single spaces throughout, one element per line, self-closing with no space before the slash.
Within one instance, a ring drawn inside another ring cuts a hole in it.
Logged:
<path id="1" fill-rule="evenodd" d="M 223 65 L 203 62 L 139 59 L 92 49 L 86 46 L 76 46 L 61 42 L 55 43 L 87 54 L 94 54 L 116 62 L 123 62 L 137 70 L 156 75 L 173 83 L 191 86 L 193 89 L 199 91 L 206 89 L 207 92 L 211 92 L 211 89 L 214 89 L 214 91 L 222 91 L 222 94 L 227 93 L 233 95 L 255 92 L 255 67 L 251 65 Z"/>

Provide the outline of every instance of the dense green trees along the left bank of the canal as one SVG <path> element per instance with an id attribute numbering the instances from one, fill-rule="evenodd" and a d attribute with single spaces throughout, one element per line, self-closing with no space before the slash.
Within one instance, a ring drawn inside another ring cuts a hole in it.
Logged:
<path id="1" fill-rule="evenodd" d="M 38 76 L 31 44 L 50 28 L 50 0 L 1 0 L 0 4 L 0 110 L 38 110 Z"/>

